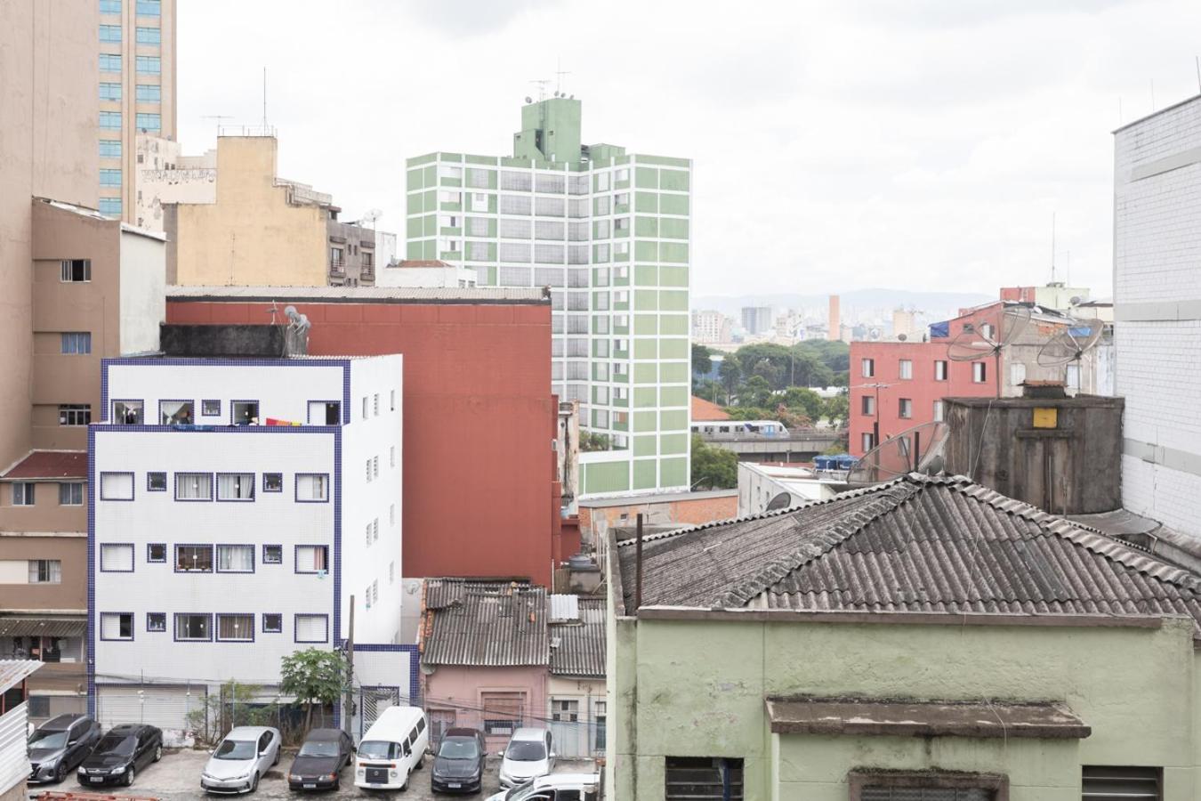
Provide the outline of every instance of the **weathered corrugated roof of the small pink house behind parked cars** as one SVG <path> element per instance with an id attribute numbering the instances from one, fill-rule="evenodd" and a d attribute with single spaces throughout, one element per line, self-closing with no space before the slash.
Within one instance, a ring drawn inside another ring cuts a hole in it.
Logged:
<path id="1" fill-rule="evenodd" d="M 422 662 L 431 665 L 545 665 L 546 591 L 518 581 L 425 582 Z"/>

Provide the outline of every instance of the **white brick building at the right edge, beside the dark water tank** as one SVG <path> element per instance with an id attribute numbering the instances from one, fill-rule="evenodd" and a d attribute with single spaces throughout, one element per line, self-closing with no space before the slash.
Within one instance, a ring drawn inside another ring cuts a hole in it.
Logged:
<path id="1" fill-rule="evenodd" d="M 1115 132 L 1122 500 L 1201 537 L 1201 96 Z"/>

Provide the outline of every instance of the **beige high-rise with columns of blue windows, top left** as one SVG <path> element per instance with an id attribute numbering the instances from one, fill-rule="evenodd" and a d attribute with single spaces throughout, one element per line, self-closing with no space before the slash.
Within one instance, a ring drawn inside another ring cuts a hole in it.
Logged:
<path id="1" fill-rule="evenodd" d="M 98 0 L 98 208 L 137 223 L 137 137 L 175 138 L 175 0 Z"/>

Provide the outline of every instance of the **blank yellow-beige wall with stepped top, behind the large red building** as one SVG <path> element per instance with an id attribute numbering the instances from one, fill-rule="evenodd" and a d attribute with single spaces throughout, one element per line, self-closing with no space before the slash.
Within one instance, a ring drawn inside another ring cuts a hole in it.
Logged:
<path id="1" fill-rule="evenodd" d="M 216 203 L 177 205 L 177 283 L 327 285 L 329 211 L 288 203 L 276 148 L 274 137 L 217 139 Z"/>

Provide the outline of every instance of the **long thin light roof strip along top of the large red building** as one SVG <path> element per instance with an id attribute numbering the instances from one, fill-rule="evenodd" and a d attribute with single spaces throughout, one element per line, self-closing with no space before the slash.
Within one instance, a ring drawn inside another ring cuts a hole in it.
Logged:
<path id="1" fill-rule="evenodd" d="M 446 304 L 549 304 L 542 287 L 209 287 L 168 286 L 169 300 L 239 300 L 270 303 L 446 303 Z"/>

